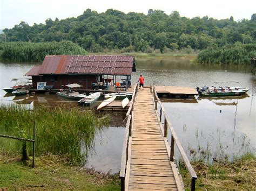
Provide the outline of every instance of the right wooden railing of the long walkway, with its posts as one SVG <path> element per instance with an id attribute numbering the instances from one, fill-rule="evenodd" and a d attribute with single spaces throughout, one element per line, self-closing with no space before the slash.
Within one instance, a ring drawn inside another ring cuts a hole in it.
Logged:
<path id="1" fill-rule="evenodd" d="M 186 153 L 185 153 L 185 151 L 184 151 L 184 149 L 183 149 L 183 147 L 182 147 L 182 145 L 179 141 L 178 136 L 176 135 L 176 132 L 173 129 L 173 126 L 172 126 L 172 124 L 169 120 L 169 117 L 166 114 L 166 111 L 163 107 L 163 104 L 159 100 L 159 97 L 158 97 L 157 92 L 156 92 L 156 88 L 154 86 L 152 87 L 151 92 L 154 95 L 154 102 L 155 102 L 155 108 L 154 109 L 156 110 L 156 113 L 159 116 L 159 122 L 161 122 L 162 116 L 164 114 L 164 137 L 167 137 L 167 128 L 168 127 L 171 131 L 171 145 L 169 145 L 170 150 L 171 150 L 171 152 L 170 152 L 170 161 L 174 161 L 174 144 L 176 143 L 176 145 L 178 147 L 178 150 L 181 154 L 181 157 L 184 160 L 185 165 L 186 165 L 186 167 L 187 167 L 187 169 L 188 169 L 188 171 L 190 172 L 190 175 L 191 175 L 191 190 L 195 190 L 197 174 L 196 174 L 196 172 L 194 172 L 194 169 L 193 169 L 192 165 L 190 164 L 190 161 L 187 158 L 187 155 L 186 155 Z M 158 104 L 160 105 L 160 114 L 159 114 L 158 109 L 157 109 Z"/>

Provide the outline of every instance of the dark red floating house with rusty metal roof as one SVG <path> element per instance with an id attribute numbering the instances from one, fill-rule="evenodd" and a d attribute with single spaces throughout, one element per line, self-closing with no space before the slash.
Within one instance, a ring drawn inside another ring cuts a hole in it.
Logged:
<path id="1" fill-rule="evenodd" d="M 136 64 L 130 55 L 49 55 L 25 75 L 32 77 L 33 89 L 65 89 L 71 83 L 80 89 L 107 89 L 117 76 L 129 86 L 132 72 Z"/>

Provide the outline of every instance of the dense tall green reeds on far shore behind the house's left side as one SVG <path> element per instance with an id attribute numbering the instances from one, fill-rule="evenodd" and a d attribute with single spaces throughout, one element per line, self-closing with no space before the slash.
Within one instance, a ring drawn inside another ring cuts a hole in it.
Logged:
<path id="1" fill-rule="evenodd" d="M 3 61 L 43 61 L 46 55 L 60 54 L 86 54 L 86 51 L 71 41 L 0 43 L 0 59 Z"/>

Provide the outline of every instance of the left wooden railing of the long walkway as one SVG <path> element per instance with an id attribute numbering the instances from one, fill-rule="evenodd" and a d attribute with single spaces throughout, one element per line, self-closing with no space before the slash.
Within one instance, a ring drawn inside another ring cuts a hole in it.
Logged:
<path id="1" fill-rule="evenodd" d="M 126 113 L 126 116 L 128 117 L 128 119 L 127 119 L 126 128 L 125 128 L 121 168 L 120 168 L 120 174 L 119 174 L 119 178 L 121 179 L 121 190 L 125 190 L 125 172 L 126 172 L 127 160 L 129 158 L 129 153 L 131 153 L 130 137 L 132 136 L 133 107 L 134 107 L 134 102 L 136 101 L 137 92 L 138 92 L 138 83 L 136 83 L 134 86 L 131 104 Z"/>

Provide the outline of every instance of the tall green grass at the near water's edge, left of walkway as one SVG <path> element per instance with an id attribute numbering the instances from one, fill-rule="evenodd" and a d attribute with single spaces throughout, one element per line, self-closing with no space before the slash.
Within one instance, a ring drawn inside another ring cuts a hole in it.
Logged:
<path id="1" fill-rule="evenodd" d="M 93 144 L 95 130 L 105 125 L 107 118 L 98 118 L 93 112 L 64 105 L 52 107 L 40 105 L 34 110 L 25 110 L 12 105 L 0 107 L 0 133 L 32 139 L 33 121 L 36 121 L 36 155 L 60 154 L 71 164 L 82 162 L 82 140 L 89 148 Z M 0 149 L 17 153 L 22 144 L 15 140 L 0 139 Z M 9 144 L 9 142 L 11 144 Z M 32 147 L 28 146 L 31 153 Z"/>

